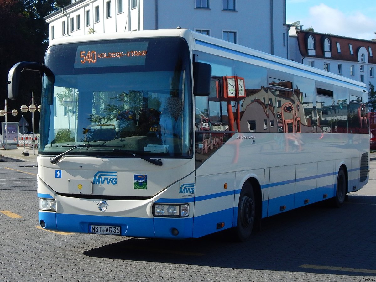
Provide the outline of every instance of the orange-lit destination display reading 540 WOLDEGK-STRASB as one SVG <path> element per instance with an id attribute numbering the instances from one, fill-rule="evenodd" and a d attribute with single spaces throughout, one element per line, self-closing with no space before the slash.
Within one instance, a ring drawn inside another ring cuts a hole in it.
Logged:
<path id="1" fill-rule="evenodd" d="M 117 42 L 77 46 L 74 68 L 144 65 L 148 42 Z"/>

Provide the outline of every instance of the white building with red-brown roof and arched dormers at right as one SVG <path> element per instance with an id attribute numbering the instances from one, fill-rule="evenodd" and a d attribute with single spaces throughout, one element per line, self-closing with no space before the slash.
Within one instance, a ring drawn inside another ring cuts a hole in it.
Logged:
<path id="1" fill-rule="evenodd" d="M 376 86 L 376 40 L 290 30 L 290 59 Z M 369 87 L 368 87 L 369 91 Z"/>

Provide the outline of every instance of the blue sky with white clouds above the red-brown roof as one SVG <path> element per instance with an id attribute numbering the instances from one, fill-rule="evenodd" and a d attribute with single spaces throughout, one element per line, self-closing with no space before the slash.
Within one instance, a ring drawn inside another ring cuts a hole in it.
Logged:
<path id="1" fill-rule="evenodd" d="M 303 29 L 359 39 L 375 39 L 375 0 L 286 0 L 286 21 Z"/>

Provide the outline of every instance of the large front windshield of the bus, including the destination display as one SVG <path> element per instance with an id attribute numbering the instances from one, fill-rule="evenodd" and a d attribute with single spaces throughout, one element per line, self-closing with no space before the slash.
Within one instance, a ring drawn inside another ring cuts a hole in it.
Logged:
<path id="1" fill-rule="evenodd" d="M 42 91 L 39 154 L 88 144 L 69 155 L 190 157 L 189 62 L 181 38 L 50 47 L 45 65 L 55 84 L 53 97 Z"/>

